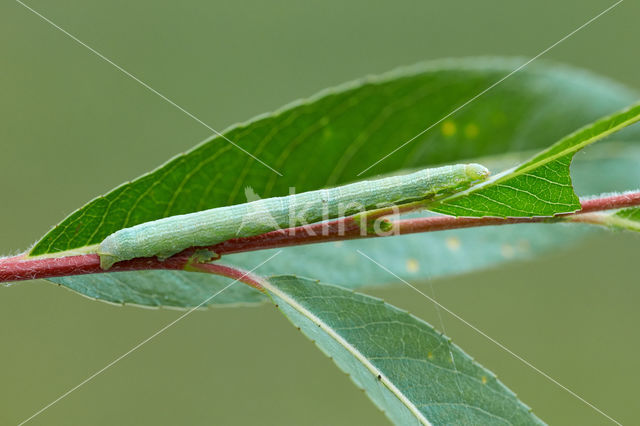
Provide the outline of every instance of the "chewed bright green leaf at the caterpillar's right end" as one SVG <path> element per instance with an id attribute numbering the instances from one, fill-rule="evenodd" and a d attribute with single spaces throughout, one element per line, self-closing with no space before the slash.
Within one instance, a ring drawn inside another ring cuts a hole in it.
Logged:
<path id="1" fill-rule="evenodd" d="M 640 104 L 564 137 L 531 160 L 443 200 L 432 210 L 453 216 L 553 216 L 580 209 L 569 166 L 577 151 L 640 120 Z"/>

